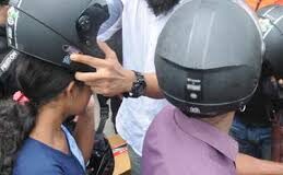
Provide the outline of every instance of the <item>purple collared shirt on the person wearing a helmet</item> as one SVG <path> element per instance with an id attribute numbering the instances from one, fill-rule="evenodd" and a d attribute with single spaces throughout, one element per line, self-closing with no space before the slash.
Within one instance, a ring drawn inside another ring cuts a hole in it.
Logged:
<path id="1" fill-rule="evenodd" d="M 228 135 L 166 106 L 146 132 L 142 175 L 235 175 L 237 153 Z"/>

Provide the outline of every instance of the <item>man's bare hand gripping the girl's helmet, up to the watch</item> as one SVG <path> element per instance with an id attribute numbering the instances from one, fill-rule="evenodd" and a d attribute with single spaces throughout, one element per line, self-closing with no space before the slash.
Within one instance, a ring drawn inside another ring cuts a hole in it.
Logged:
<path id="1" fill-rule="evenodd" d="M 105 59 L 85 55 L 72 55 L 71 60 L 96 68 L 96 72 L 76 72 L 75 79 L 83 81 L 92 91 L 105 96 L 115 96 L 131 90 L 134 73 L 119 63 L 116 52 L 104 42 L 97 42 Z"/>

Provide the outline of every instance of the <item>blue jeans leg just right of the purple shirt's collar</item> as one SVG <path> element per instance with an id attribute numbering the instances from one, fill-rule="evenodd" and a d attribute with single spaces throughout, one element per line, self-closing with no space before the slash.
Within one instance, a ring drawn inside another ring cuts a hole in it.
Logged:
<path id="1" fill-rule="evenodd" d="M 249 140 L 248 131 L 248 126 L 243 124 L 237 116 L 235 116 L 229 135 L 238 142 L 240 153 L 257 156 L 256 148 Z"/>

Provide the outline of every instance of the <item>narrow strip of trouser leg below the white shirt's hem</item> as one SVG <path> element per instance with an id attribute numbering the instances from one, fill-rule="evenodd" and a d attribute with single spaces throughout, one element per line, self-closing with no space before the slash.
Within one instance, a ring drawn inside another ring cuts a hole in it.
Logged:
<path id="1" fill-rule="evenodd" d="M 131 175 L 140 175 L 141 174 L 141 156 L 138 155 L 131 145 L 128 144 L 128 152 L 131 162 Z"/>

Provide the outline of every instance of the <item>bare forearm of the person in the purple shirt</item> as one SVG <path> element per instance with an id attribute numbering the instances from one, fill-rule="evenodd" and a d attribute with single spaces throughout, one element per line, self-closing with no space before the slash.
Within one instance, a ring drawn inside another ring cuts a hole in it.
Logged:
<path id="1" fill-rule="evenodd" d="M 263 161 L 239 153 L 236 159 L 238 175 L 283 175 L 283 164 Z"/>

